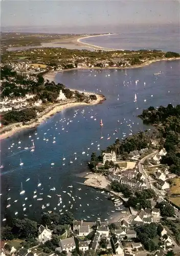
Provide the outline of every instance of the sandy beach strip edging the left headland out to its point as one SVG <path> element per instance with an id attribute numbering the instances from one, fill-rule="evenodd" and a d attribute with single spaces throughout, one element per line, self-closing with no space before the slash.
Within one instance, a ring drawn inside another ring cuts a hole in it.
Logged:
<path id="1" fill-rule="evenodd" d="M 105 97 L 100 94 L 95 94 L 97 97 L 97 100 L 94 100 L 92 103 L 85 103 L 85 102 L 68 102 L 65 104 L 53 104 L 52 107 L 50 107 L 50 110 L 47 111 L 47 109 L 44 111 L 44 113 L 41 114 L 40 117 L 38 117 L 38 120 L 32 120 L 29 123 L 22 125 L 22 123 L 15 123 L 14 126 L 13 124 L 10 124 L 9 126 L 12 126 L 12 129 L 10 131 L 5 131 L 4 133 L 0 134 L 0 140 L 6 139 L 8 137 L 11 137 L 17 132 L 20 132 L 25 129 L 32 129 L 39 124 L 46 122 L 47 119 L 49 119 L 51 116 L 54 116 L 58 112 L 61 112 L 65 109 L 70 109 L 70 108 L 75 108 L 75 106 L 88 106 L 88 105 L 96 105 L 100 104 L 105 100 Z M 4 127 L 5 130 L 8 130 L 8 126 Z M 2 132 L 2 131 L 1 131 Z"/>

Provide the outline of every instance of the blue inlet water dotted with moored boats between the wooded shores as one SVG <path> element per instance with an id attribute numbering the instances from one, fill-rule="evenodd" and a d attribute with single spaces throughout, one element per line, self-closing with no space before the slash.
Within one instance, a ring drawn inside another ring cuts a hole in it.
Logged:
<path id="1" fill-rule="evenodd" d="M 161 61 L 138 69 L 92 69 L 58 73 L 56 82 L 62 82 L 72 89 L 100 92 L 105 95 L 106 101 L 94 106 L 63 110 L 36 129 L 22 131 L 1 142 L 1 162 L 4 165 L 1 169 L 1 218 L 14 216 L 15 211 L 18 211 L 18 217 L 26 214 L 30 218 L 39 218 L 41 212 L 54 211 L 54 207 L 57 207 L 56 211 L 71 210 L 77 219 L 87 219 L 89 216 L 89 220 L 93 220 L 91 215 L 96 216 L 98 213 L 102 214 L 102 219 L 108 218 L 106 211 L 114 210 L 113 204 L 104 198 L 105 194 L 84 186 L 84 179 L 79 174 L 88 172 L 87 162 L 92 152 L 100 154 L 106 146 L 114 143 L 116 137 L 123 139 L 130 133 L 149 128 L 137 117 L 144 108 L 179 103 L 179 64 L 180 61 Z M 159 71 L 162 74 L 153 75 Z M 136 80 L 139 80 L 137 85 Z M 133 102 L 135 93 L 137 102 Z M 103 139 L 100 139 L 101 118 L 104 123 Z M 117 134 L 115 129 L 118 130 Z M 107 140 L 107 136 L 111 137 L 110 140 Z M 34 140 L 34 152 L 24 150 L 24 147 L 32 145 L 31 140 Z M 19 146 L 21 148 L 18 149 Z M 65 165 L 62 165 L 63 157 Z M 24 162 L 22 167 L 19 166 L 20 158 Z M 28 178 L 30 180 L 26 182 Z M 19 195 L 21 182 L 26 190 L 22 196 Z M 38 182 L 41 183 L 40 187 L 37 187 Z M 71 185 L 72 188 L 68 187 Z M 56 190 L 50 191 L 53 187 Z M 37 198 L 42 198 L 42 201 L 33 199 L 35 190 Z M 60 206 L 57 206 L 56 194 L 62 197 Z M 96 197 L 99 199 L 96 200 Z M 7 201 L 8 198 L 11 199 Z M 50 206 L 42 210 L 42 204 L 47 203 Z M 9 208 L 8 204 L 11 205 Z"/>

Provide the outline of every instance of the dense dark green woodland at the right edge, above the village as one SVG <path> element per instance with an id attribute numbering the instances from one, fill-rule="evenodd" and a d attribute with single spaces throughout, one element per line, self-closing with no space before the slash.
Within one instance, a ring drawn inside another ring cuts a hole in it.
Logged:
<path id="1" fill-rule="evenodd" d="M 180 175 L 180 105 L 173 107 L 160 106 L 154 109 L 150 106 L 139 116 L 146 123 L 156 124 L 159 137 L 163 142 L 167 154 L 162 157 L 161 163 L 170 166 L 170 172 Z"/>

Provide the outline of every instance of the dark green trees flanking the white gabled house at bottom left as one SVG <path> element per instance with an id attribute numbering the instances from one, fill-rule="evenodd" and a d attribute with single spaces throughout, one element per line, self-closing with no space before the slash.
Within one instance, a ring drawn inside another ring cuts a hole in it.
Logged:
<path id="1" fill-rule="evenodd" d="M 39 234 L 38 227 L 42 224 L 53 230 L 52 240 L 47 241 L 42 248 L 44 252 L 48 252 L 48 250 L 49 252 L 55 251 L 55 248 L 58 247 L 60 236 L 65 230 L 71 228 L 73 220 L 74 217 L 71 212 L 65 212 L 62 217 L 56 212 L 53 212 L 52 214 L 43 214 L 39 224 L 28 218 L 22 220 L 13 218 L 8 221 L 7 226 L 1 227 L 1 239 L 22 239 L 24 242 L 21 243 L 21 246 L 30 248 L 39 244 L 36 238 Z"/>

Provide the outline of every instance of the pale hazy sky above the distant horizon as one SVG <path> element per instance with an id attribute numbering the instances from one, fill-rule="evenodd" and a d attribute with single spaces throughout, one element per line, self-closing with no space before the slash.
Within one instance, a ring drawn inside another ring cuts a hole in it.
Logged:
<path id="1" fill-rule="evenodd" d="M 179 24 L 179 1 L 46 1 L 1 0 L 1 26 L 111 28 L 123 24 Z M 4 28 L 4 29 L 5 29 Z M 40 31 L 39 31 L 40 32 Z"/>

